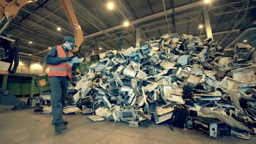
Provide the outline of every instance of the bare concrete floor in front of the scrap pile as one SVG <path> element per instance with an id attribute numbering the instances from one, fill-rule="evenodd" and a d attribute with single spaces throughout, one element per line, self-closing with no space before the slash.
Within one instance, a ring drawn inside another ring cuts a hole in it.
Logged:
<path id="1" fill-rule="evenodd" d="M 251 140 L 224 136 L 210 139 L 205 133 L 168 128 L 166 123 L 149 128 L 132 128 L 124 122 L 92 122 L 88 115 L 64 115 L 67 131 L 57 134 L 51 125 L 52 115 L 34 109 L 11 110 L 0 105 L 0 144 L 256 144 Z"/>

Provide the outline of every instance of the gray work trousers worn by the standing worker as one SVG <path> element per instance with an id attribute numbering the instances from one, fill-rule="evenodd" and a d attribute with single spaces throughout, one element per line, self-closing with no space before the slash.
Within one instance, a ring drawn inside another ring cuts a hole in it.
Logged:
<path id="1" fill-rule="evenodd" d="M 51 107 L 53 111 L 53 121 L 52 124 L 59 123 L 63 121 L 62 112 L 65 104 L 65 99 L 67 98 L 67 87 L 68 87 L 69 77 L 59 77 L 51 76 Z"/>

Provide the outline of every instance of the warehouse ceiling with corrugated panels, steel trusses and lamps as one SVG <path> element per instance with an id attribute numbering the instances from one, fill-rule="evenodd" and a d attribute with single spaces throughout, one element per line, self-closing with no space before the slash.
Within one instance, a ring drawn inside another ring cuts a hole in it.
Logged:
<path id="1" fill-rule="evenodd" d="M 112 10 L 107 8 L 108 0 L 71 1 L 86 37 L 80 47 L 82 55 L 92 54 L 95 39 L 98 41 L 96 53 L 117 49 L 121 41 L 124 47 L 135 46 L 136 28 L 142 33 L 142 43 L 149 37 L 158 38 L 169 31 L 204 39 L 204 28 L 198 26 L 203 24 L 202 10 L 205 7 L 209 10 L 213 38 L 221 40 L 224 46 L 248 27 L 256 27 L 256 0 L 211 0 L 211 4 L 204 0 L 112 0 L 115 5 Z M 187 7 L 193 3 L 201 4 Z M 166 11 L 174 8 L 175 13 L 155 16 L 164 12 L 164 6 Z M 179 9 L 181 6 L 183 9 Z M 146 19 L 149 16 L 152 18 Z M 125 27 L 124 21 L 131 24 Z M 19 37 L 20 51 L 35 56 L 45 56 L 49 48 L 63 43 L 64 36 L 74 36 L 60 0 L 37 0 L 27 5 L 5 33 Z M 256 30 L 248 31 L 237 42 L 244 40 L 255 46 Z"/>

